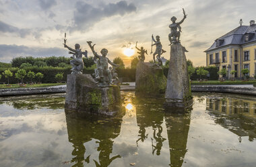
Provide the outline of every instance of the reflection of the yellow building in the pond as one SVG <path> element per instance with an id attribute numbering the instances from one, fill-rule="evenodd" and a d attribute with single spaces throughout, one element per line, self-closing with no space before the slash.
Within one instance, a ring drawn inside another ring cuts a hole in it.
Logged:
<path id="1" fill-rule="evenodd" d="M 248 136 L 256 139 L 256 98 L 252 96 L 207 96 L 206 110 L 214 114 L 216 123 L 238 135 L 238 141 Z"/>

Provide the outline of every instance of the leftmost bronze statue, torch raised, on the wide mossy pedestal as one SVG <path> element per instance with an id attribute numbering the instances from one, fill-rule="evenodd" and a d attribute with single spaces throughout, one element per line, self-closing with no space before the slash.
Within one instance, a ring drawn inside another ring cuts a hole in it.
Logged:
<path id="1" fill-rule="evenodd" d="M 69 49 L 69 54 L 72 54 L 70 64 L 72 66 L 71 73 L 83 73 L 84 61 L 82 59 L 83 55 L 87 57 L 87 51 L 82 52 L 80 45 L 75 44 L 75 49 L 67 46 L 67 39 L 64 39 L 64 47 Z"/>

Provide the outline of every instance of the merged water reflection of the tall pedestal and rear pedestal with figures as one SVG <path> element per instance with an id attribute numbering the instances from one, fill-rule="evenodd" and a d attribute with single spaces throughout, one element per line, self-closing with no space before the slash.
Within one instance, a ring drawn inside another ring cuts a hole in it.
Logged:
<path id="1" fill-rule="evenodd" d="M 143 142 L 147 137 L 146 127 L 154 130 L 152 140 L 152 154 L 160 156 L 163 142 L 162 137 L 164 121 L 167 129 L 170 164 L 169 166 L 182 166 L 187 152 L 187 137 L 191 120 L 191 108 L 183 110 L 183 114 L 172 113 L 162 107 L 163 99 L 135 98 L 137 125 L 139 126 L 139 139 Z M 166 132 L 164 132 L 166 133 Z M 155 143 L 155 144 L 154 144 Z"/>

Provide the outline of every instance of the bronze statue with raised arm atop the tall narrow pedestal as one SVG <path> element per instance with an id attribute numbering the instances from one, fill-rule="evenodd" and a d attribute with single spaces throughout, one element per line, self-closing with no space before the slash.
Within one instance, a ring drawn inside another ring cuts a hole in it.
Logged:
<path id="1" fill-rule="evenodd" d="M 170 20 L 172 21 L 172 24 L 169 25 L 170 28 L 170 34 L 169 34 L 169 40 L 170 44 L 175 42 L 180 42 L 180 36 L 181 36 L 181 24 L 184 22 L 185 18 L 187 18 L 187 15 L 185 13 L 185 10 L 183 9 L 184 17 L 181 20 L 181 22 L 176 22 L 177 18 L 175 16 L 172 16 Z M 179 29 L 179 30 L 178 30 Z"/>

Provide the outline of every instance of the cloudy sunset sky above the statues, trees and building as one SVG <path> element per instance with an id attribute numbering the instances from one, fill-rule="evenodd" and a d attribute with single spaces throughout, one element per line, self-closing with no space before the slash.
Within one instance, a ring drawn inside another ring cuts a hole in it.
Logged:
<path id="1" fill-rule="evenodd" d="M 92 56 L 87 41 L 96 43 L 96 52 L 108 49 L 110 60 L 121 57 L 126 65 L 137 56 L 124 55 L 126 48 L 143 46 L 146 61 L 152 60 L 151 36 L 160 36 L 162 56 L 170 58 L 170 18 L 187 18 L 181 24 L 181 44 L 193 65 L 205 65 L 205 51 L 214 40 L 239 26 L 256 20 L 255 0 L 0 0 L 0 61 L 9 63 L 20 56 L 70 57 L 63 47 L 81 45 Z M 153 52 L 156 48 L 153 47 Z"/>

